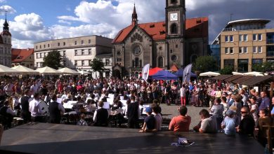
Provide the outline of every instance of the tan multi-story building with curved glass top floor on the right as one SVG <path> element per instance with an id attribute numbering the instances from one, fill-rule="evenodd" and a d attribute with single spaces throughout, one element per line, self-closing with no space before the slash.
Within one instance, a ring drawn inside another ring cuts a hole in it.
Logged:
<path id="1" fill-rule="evenodd" d="M 253 64 L 274 62 L 274 29 L 266 29 L 270 20 L 247 19 L 228 22 L 213 44 L 221 45 L 221 69 L 252 71 Z"/>

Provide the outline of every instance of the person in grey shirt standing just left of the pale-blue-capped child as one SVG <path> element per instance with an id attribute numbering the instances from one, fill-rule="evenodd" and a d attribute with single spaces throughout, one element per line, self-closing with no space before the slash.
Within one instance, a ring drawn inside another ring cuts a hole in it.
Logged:
<path id="1" fill-rule="evenodd" d="M 221 99 L 216 98 L 214 105 L 211 108 L 211 112 L 213 113 L 213 116 L 216 117 L 217 121 L 217 129 L 221 130 L 221 123 L 223 121 L 223 105 L 221 104 Z"/>

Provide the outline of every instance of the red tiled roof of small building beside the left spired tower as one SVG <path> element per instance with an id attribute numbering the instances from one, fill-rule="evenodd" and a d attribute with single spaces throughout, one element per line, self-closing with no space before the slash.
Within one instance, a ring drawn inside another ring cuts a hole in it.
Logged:
<path id="1" fill-rule="evenodd" d="M 11 61 L 12 62 L 22 62 L 27 57 L 30 57 L 34 52 L 34 48 L 28 49 L 11 49 Z"/>

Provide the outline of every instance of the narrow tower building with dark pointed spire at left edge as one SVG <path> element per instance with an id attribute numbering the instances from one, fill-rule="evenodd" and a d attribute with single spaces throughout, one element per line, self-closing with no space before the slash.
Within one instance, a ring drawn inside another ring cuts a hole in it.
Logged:
<path id="1" fill-rule="evenodd" d="M 0 64 L 11 67 L 11 32 L 6 20 L 0 36 Z"/>

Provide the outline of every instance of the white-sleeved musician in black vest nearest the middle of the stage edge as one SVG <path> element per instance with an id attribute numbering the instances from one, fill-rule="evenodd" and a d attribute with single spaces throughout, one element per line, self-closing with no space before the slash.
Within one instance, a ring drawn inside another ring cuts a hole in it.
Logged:
<path id="1" fill-rule="evenodd" d="M 104 102 L 98 102 L 98 109 L 93 115 L 93 122 L 95 126 L 107 127 L 108 125 L 108 111 L 103 109 Z"/>

